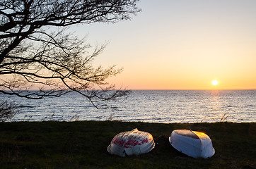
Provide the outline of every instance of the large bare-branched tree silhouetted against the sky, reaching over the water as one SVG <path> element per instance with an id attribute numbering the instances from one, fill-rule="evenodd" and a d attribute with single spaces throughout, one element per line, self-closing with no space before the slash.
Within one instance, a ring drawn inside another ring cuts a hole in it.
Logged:
<path id="1" fill-rule="evenodd" d="M 106 82 L 120 69 L 93 68 L 93 59 L 105 45 L 88 54 L 91 46 L 66 30 L 71 25 L 130 19 L 140 11 L 137 1 L 1 0 L 0 92 L 42 99 L 74 91 L 96 107 L 99 101 L 127 95 L 127 89 Z"/>

